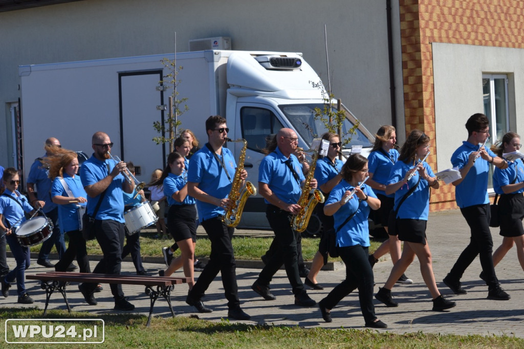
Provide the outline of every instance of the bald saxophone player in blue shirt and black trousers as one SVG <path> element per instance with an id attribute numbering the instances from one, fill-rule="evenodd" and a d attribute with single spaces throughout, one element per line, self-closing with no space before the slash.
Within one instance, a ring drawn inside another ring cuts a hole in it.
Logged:
<path id="1" fill-rule="evenodd" d="M 292 216 L 301 210 L 297 202 L 305 182 L 299 160 L 293 155 L 297 145 L 297 134 L 292 129 L 282 128 L 265 149 L 266 157 L 260 163 L 258 191 L 267 204 L 266 217 L 275 233 L 277 250 L 267 260 L 251 288 L 265 300 L 276 299 L 269 291 L 269 283 L 284 264 L 295 297 L 294 303 L 311 307 L 316 302 L 304 290 L 297 263 L 299 233 L 291 227 Z M 311 179 L 309 185 L 312 189 L 316 188 L 316 180 Z"/>

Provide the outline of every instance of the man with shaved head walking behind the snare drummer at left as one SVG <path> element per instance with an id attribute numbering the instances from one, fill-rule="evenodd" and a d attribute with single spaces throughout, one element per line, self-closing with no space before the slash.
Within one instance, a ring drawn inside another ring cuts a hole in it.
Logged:
<path id="1" fill-rule="evenodd" d="M 45 156 L 52 156 L 56 154 L 57 149 L 61 148 L 60 141 L 54 137 L 46 139 L 44 149 L 46 150 Z M 40 247 L 40 253 L 38 254 L 37 264 L 52 268 L 54 265 L 49 261 L 49 253 L 51 248 L 54 246 L 57 248 L 58 258 L 61 259 L 65 253 L 64 234 L 60 231 L 58 225 L 58 206 L 51 200 L 51 179 L 48 177 L 49 169 L 42 166 L 41 158 L 35 160 L 29 170 L 29 176 L 27 177 L 27 195 L 29 202 L 35 207 L 35 209 L 42 208 L 42 212 L 53 222 L 53 233 L 50 238 L 42 243 Z M 38 199 L 35 195 L 38 193 Z M 45 206 L 44 206 L 45 204 Z M 76 266 L 71 265 L 68 271 L 76 269 Z"/>

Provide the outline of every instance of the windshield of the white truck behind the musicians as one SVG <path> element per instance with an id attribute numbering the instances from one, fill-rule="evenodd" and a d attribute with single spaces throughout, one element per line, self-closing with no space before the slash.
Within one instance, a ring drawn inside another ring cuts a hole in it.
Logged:
<path id="1" fill-rule="evenodd" d="M 318 118 L 315 119 L 315 107 L 323 110 L 324 105 L 321 103 L 279 105 L 282 113 L 286 115 L 291 124 L 293 124 L 294 129 L 299 133 L 299 136 L 308 145 L 311 145 L 313 138 L 318 138 L 323 133 L 328 132 L 323 122 Z M 336 113 L 335 107 L 333 107 L 333 112 Z M 342 125 L 341 134 L 344 135 L 353 126 L 354 124 L 346 118 Z M 361 124 L 356 130 L 356 134 L 351 135 L 350 143 L 346 144 L 344 148 L 351 148 L 354 145 L 362 145 L 363 148 L 372 147 L 373 139 L 373 135 Z"/>

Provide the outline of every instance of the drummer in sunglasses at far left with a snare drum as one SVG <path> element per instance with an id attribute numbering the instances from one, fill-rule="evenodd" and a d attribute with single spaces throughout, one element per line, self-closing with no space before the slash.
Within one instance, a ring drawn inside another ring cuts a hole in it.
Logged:
<path id="1" fill-rule="evenodd" d="M 18 171 L 9 167 L 4 170 L 2 176 L 4 188 L 0 189 L 0 235 L 6 235 L 9 249 L 16 260 L 16 267 L 2 278 L 2 296 L 9 296 L 11 283 L 16 279 L 18 303 L 31 304 L 34 300 L 27 294 L 25 286 L 25 270 L 31 264 L 29 259 L 29 247 L 20 245 L 15 230 L 20 223 L 26 221 L 24 212 L 34 214 L 32 206 L 24 195 L 18 192 L 20 177 Z"/>

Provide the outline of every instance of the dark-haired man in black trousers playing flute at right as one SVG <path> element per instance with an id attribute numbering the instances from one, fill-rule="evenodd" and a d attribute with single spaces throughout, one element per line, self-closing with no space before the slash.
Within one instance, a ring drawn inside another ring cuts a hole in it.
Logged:
<path id="1" fill-rule="evenodd" d="M 510 296 L 500 287 L 493 266 L 493 239 L 489 231 L 489 199 L 487 193 L 490 164 L 507 168 L 504 159 L 482 147 L 489 137 L 489 121 L 484 114 L 474 114 L 466 122 L 468 138 L 451 157 L 453 167 L 459 168 L 462 178 L 453 182 L 455 199 L 471 229 L 470 244 L 463 250 L 444 283 L 455 294 L 467 293 L 460 279 L 477 255 L 481 260 L 481 277 L 488 286 L 488 299 L 508 300 Z"/>

